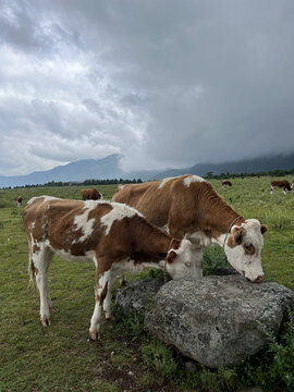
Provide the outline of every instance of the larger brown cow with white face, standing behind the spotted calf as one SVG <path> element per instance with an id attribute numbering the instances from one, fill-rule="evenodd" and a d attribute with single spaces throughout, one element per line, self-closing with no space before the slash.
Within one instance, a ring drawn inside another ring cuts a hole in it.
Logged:
<path id="1" fill-rule="evenodd" d="M 172 236 L 189 240 L 197 264 L 203 246 L 219 244 L 235 270 L 253 282 L 264 279 L 260 255 L 267 226 L 237 215 L 204 179 L 182 175 L 124 185 L 112 201 L 125 203 Z"/>

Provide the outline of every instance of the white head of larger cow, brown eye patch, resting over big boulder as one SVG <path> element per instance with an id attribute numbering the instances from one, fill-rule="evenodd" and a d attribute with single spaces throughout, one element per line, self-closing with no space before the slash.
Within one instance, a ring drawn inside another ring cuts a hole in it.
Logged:
<path id="1" fill-rule="evenodd" d="M 256 219 L 247 219 L 241 225 L 234 225 L 224 244 L 229 262 L 252 282 L 261 282 L 264 271 L 261 266 L 262 234 L 267 231 L 265 224 Z"/>

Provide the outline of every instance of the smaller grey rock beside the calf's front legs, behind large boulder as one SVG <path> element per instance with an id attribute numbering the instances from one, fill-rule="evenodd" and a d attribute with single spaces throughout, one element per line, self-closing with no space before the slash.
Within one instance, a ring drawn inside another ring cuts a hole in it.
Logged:
<path id="1" fill-rule="evenodd" d="M 163 283 L 156 279 L 146 279 L 131 283 L 118 292 L 115 302 L 122 307 L 124 314 L 127 314 L 128 309 L 135 311 L 144 310 L 150 305 Z"/>

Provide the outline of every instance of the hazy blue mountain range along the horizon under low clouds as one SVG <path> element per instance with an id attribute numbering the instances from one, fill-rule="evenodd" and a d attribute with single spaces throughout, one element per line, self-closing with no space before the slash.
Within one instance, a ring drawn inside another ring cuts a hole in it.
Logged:
<path id="1" fill-rule="evenodd" d="M 222 162 L 222 163 L 197 163 L 191 168 L 159 170 L 142 170 L 124 172 L 120 169 L 120 159 L 118 154 L 110 155 L 102 159 L 78 160 L 64 166 L 56 167 L 47 171 L 37 171 L 27 175 L 4 176 L 0 175 L 0 187 L 24 186 L 45 184 L 51 181 L 62 182 L 83 182 L 85 180 L 106 180 L 106 179 L 142 179 L 160 180 L 168 176 L 182 174 L 206 175 L 209 172 L 213 174 L 221 173 L 254 173 L 268 172 L 272 170 L 292 170 L 294 169 L 294 154 L 275 155 L 261 158 Z"/>

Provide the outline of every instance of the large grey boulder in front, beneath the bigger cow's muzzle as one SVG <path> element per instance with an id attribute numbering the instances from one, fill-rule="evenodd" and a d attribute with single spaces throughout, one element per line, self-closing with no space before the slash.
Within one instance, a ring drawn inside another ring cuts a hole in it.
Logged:
<path id="1" fill-rule="evenodd" d="M 267 344 L 260 323 L 277 334 L 294 292 L 241 275 L 170 281 L 156 295 L 145 326 L 184 356 L 211 368 L 237 364 Z"/>

